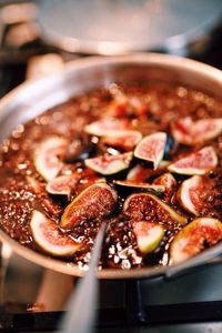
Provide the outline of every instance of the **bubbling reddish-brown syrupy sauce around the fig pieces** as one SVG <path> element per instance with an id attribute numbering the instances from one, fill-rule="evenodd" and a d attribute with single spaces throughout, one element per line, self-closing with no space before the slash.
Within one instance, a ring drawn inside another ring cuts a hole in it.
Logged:
<path id="1" fill-rule="evenodd" d="M 169 219 L 158 221 L 159 224 L 163 225 L 163 236 L 152 251 L 141 251 L 133 229 L 137 221 L 124 212 L 123 206 L 125 198 L 133 193 L 145 192 L 145 190 L 139 189 L 138 191 L 138 189 L 130 186 L 118 186 L 113 181 L 131 180 L 135 183 L 158 184 L 158 178 L 169 173 L 169 163 L 173 163 L 190 153 L 195 153 L 204 147 L 212 147 L 218 163 L 212 170 L 200 175 L 203 183 L 208 185 L 200 192 L 201 205 L 199 203 L 199 208 L 201 206 L 201 209 L 199 209 L 198 215 L 184 209 L 179 200 L 179 189 L 182 182 L 193 174 L 171 172 L 175 179 L 175 184 L 169 190 L 170 192 L 165 189 L 165 192 L 158 193 L 157 198 L 176 211 L 178 214 L 185 216 L 188 223 L 196 218 L 221 220 L 221 133 L 195 144 L 176 142 L 172 133 L 172 124 L 176 123 L 178 120 L 189 117 L 193 122 L 196 122 L 203 119 L 220 119 L 221 115 L 222 103 L 220 101 L 185 87 L 167 85 L 160 82 L 150 82 L 143 85 L 134 84 L 134 87 L 113 83 L 108 89 L 98 89 L 72 98 L 68 102 L 46 111 L 32 121 L 19 124 L 11 137 L 6 139 L 0 147 L 1 229 L 22 245 L 48 255 L 34 241 L 30 228 L 32 212 L 39 210 L 48 219 L 54 221 L 61 233 L 80 244 L 73 255 L 64 256 L 63 260 L 84 269 L 90 260 L 93 240 L 102 221 L 105 220 L 108 228 L 103 242 L 101 268 L 131 269 L 169 264 L 170 244 L 184 225 L 173 220 L 169 221 Z M 163 161 L 155 170 L 143 163 L 144 161 L 141 162 L 133 158 L 128 168 L 109 175 L 100 174 L 98 170 L 87 167 L 85 159 L 88 158 L 118 155 L 134 150 L 133 145 L 128 144 L 125 148 L 122 142 L 118 144 L 117 140 L 114 142 L 110 138 L 105 141 L 104 135 L 97 137 L 97 133 L 85 133 L 85 125 L 105 118 L 125 121 L 127 128 L 140 132 L 143 138 L 155 132 L 168 133 L 173 143 L 167 158 L 164 155 Z M 58 157 L 62 161 L 58 176 L 72 173 L 77 175 L 77 181 L 72 184 L 69 195 L 49 193 L 47 190 L 48 181 L 39 172 L 34 162 L 33 155 L 39 145 L 44 140 L 54 137 L 62 138 L 68 142 L 64 154 Z M 111 141 L 114 143 L 110 143 Z M 82 158 L 78 159 L 81 155 Z M 137 168 L 140 169 L 138 173 Z M 68 204 L 100 179 L 103 179 L 101 181 L 105 180 L 117 192 L 118 201 L 112 213 L 105 218 L 82 219 L 72 229 L 62 229 L 60 221 Z M 155 209 L 155 204 L 153 206 Z M 149 216 L 154 215 L 154 212 L 144 214 L 142 220 L 149 221 Z M 221 240 L 222 234 L 218 238 L 218 241 Z"/>

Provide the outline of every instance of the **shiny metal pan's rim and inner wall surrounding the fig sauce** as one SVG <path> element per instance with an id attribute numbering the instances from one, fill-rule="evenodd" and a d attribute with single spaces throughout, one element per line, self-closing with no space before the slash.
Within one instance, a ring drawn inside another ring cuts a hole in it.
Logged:
<path id="1" fill-rule="evenodd" d="M 10 135 L 13 128 L 49 108 L 67 101 L 73 95 L 91 89 L 107 87 L 111 82 L 132 82 L 141 80 L 161 80 L 189 85 L 221 98 L 222 72 L 206 64 L 185 58 L 158 54 L 135 53 L 132 56 L 91 57 L 68 63 L 57 74 L 27 82 L 11 91 L 0 101 L 0 140 Z M 7 242 L 21 256 L 41 266 L 75 276 L 83 272 L 73 264 L 52 259 L 30 250 L 8 236 L 0 230 L 0 240 Z M 205 265 L 215 258 L 220 260 L 222 242 L 201 254 L 172 266 L 154 266 L 134 270 L 98 271 L 99 279 L 140 279 L 153 276 L 174 276 Z"/>

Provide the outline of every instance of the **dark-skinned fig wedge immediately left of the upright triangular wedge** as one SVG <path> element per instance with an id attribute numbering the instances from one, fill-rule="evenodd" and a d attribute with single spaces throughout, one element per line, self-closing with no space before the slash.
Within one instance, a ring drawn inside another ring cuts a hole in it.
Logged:
<path id="1" fill-rule="evenodd" d="M 101 174 L 114 174 L 128 169 L 132 160 L 132 152 L 117 155 L 100 155 L 93 159 L 87 159 L 85 165 Z"/>

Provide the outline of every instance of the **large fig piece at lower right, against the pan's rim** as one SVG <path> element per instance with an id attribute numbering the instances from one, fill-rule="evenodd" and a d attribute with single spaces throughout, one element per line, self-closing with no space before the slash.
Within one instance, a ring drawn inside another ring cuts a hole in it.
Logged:
<path id="1" fill-rule="evenodd" d="M 222 240 L 222 222 L 199 218 L 183 228 L 173 239 L 170 258 L 173 264 L 183 262 Z"/>

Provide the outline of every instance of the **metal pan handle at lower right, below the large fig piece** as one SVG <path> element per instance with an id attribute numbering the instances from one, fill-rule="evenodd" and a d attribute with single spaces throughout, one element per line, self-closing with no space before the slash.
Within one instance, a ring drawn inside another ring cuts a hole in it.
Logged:
<path id="1" fill-rule="evenodd" d="M 214 252 L 216 252 L 216 254 L 214 254 Z M 206 265 L 209 266 L 212 264 L 222 264 L 221 249 L 220 249 L 220 253 L 218 253 L 218 251 L 214 252 L 210 254 L 203 253 L 203 255 L 193 258 L 182 264 L 170 266 L 169 270 L 165 272 L 164 278 L 167 280 L 173 280 L 186 274 L 195 273 L 201 269 L 205 269 Z M 204 258 L 205 256 L 204 254 L 209 254 L 209 255 Z"/>

